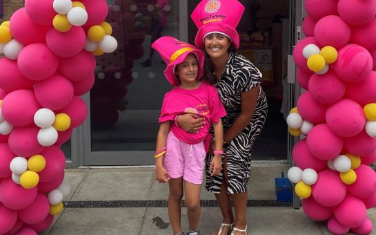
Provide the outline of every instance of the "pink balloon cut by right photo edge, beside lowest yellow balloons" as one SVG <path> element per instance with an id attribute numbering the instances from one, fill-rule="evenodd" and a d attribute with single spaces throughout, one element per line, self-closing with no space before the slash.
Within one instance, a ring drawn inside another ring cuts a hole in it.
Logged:
<path id="1" fill-rule="evenodd" d="M 357 180 L 347 186 L 347 191 L 358 198 L 368 198 L 376 193 L 376 172 L 361 164 L 360 167 L 355 169 Z"/>

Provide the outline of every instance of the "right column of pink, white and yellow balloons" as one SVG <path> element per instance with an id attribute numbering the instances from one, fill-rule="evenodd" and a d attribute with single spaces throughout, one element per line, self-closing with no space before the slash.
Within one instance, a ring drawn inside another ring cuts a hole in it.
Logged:
<path id="1" fill-rule="evenodd" d="M 376 205 L 376 1 L 306 0 L 306 38 L 293 57 L 306 93 L 287 118 L 305 135 L 288 178 L 313 220 L 333 234 L 368 234 Z"/>

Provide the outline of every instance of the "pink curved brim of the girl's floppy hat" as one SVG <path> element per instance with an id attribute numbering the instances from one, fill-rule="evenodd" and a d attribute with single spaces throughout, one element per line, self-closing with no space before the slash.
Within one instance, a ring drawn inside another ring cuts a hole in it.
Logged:
<path id="1" fill-rule="evenodd" d="M 177 57 L 175 61 L 168 64 L 167 68 L 164 71 L 164 75 L 166 76 L 166 79 L 168 80 L 168 82 L 170 82 L 172 86 L 179 86 L 179 81 L 177 77 L 175 76 L 175 66 L 177 66 L 177 64 L 181 64 L 182 62 L 184 62 L 184 59 L 186 59 L 187 55 L 189 55 L 190 53 L 195 54 L 199 62 L 199 72 L 197 74 L 197 79 L 200 79 L 202 76 L 204 76 L 204 71 L 203 71 L 204 62 L 205 62 L 204 53 L 201 50 L 197 50 L 197 49 L 188 50 L 182 53 L 181 55 L 179 55 L 179 57 Z"/>

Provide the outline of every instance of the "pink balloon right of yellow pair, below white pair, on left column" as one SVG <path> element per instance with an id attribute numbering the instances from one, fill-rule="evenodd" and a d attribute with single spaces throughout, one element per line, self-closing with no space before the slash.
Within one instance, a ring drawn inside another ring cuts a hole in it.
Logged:
<path id="1" fill-rule="evenodd" d="M 39 154 L 46 159 L 46 167 L 38 172 L 39 181 L 49 182 L 55 180 L 59 176 L 57 172 L 64 171 L 66 166 L 66 156 L 64 156 L 63 151 L 52 145 L 44 148 Z"/>

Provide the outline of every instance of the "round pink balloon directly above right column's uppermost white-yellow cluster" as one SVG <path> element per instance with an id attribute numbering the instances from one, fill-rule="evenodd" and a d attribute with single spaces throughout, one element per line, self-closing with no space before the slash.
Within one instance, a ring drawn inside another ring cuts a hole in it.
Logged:
<path id="1" fill-rule="evenodd" d="M 314 35 L 321 46 L 333 46 L 339 49 L 350 40 L 351 30 L 341 17 L 328 15 L 317 21 Z"/>

